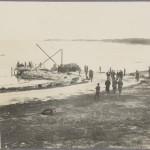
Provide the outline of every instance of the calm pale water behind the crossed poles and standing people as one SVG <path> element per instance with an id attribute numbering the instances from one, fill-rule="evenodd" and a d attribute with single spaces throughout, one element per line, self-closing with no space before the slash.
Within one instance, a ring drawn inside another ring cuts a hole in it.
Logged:
<path id="1" fill-rule="evenodd" d="M 10 68 L 15 67 L 17 61 L 33 61 L 35 64 L 43 62 L 47 56 L 35 45 L 38 43 L 50 56 L 57 50 L 63 49 L 65 63 L 77 63 L 82 68 L 107 71 L 110 67 L 115 70 L 126 68 L 127 72 L 146 70 L 150 66 L 150 46 L 129 45 L 104 42 L 75 42 L 75 41 L 5 41 L 0 42 L 0 76 L 10 77 Z M 61 55 L 58 53 L 53 59 L 60 64 Z M 45 66 L 50 68 L 52 61 Z M 2 79 L 1 79 L 2 80 Z"/>

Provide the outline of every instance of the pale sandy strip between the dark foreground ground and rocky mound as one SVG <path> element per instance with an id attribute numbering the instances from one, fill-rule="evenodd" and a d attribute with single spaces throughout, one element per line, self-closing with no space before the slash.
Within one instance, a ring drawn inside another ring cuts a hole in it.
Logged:
<path id="1" fill-rule="evenodd" d="M 84 77 L 84 74 L 82 74 Z M 48 89 L 35 89 L 35 90 L 26 90 L 26 91 L 18 91 L 18 92 L 6 92 L 0 93 L 1 101 L 0 106 L 2 105 L 9 105 L 15 103 L 24 103 L 30 100 L 41 99 L 41 101 L 47 101 L 49 99 L 67 99 L 71 96 L 78 96 L 83 94 L 94 94 L 95 87 L 97 83 L 100 83 L 101 92 L 105 91 L 105 82 L 106 74 L 95 72 L 93 82 L 85 82 L 83 84 L 75 84 L 63 87 L 56 87 L 56 88 L 48 88 Z M 34 82 L 34 81 L 33 81 Z M 50 81 L 47 81 L 47 83 Z M 132 76 L 125 76 L 123 79 L 124 87 L 137 84 L 137 81 Z M 46 81 L 38 81 L 38 83 L 46 83 Z M 24 86 L 31 86 L 31 84 L 22 84 Z M 19 85 L 12 85 L 13 87 Z M 112 89 L 112 87 L 110 88 Z"/>

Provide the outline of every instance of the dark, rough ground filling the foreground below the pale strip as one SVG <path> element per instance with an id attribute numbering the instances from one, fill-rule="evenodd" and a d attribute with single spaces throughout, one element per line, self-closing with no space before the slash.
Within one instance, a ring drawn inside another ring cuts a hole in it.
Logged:
<path id="1" fill-rule="evenodd" d="M 93 94 L 84 94 L 3 106 L 2 146 L 150 148 L 149 90 L 150 84 L 141 83 L 121 95 L 101 93 L 98 101 Z M 54 114 L 40 115 L 46 108 Z"/>

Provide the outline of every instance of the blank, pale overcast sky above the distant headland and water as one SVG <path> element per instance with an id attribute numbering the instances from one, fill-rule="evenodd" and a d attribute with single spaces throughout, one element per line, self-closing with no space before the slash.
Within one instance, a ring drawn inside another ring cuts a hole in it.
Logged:
<path id="1" fill-rule="evenodd" d="M 148 2 L 0 2 L 0 40 L 150 38 Z"/>

